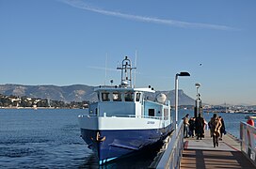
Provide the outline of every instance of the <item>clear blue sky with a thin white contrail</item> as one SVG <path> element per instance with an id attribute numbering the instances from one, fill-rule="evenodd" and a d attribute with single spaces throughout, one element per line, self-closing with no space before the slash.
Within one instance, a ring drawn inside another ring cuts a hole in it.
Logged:
<path id="1" fill-rule="evenodd" d="M 255 0 L 0 0 L 0 84 L 179 88 L 208 104 L 256 105 Z"/>

